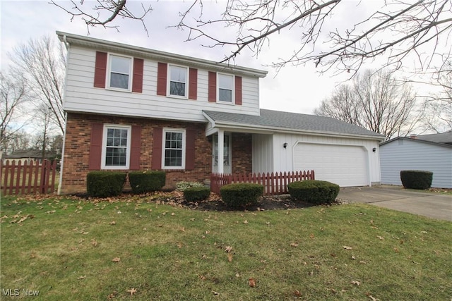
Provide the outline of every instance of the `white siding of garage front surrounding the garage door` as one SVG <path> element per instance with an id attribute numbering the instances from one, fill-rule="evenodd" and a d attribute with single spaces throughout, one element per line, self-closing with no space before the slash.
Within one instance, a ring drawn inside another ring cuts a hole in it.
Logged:
<path id="1" fill-rule="evenodd" d="M 287 142 L 287 148 L 284 143 Z M 365 164 L 367 167 L 367 184 L 378 184 L 380 178 L 380 162 L 378 142 L 376 140 L 364 140 L 342 137 L 328 137 L 316 135 L 292 135 L 292 134 L 275 134 L 273 135 L 273 162 L 274 171 L 295 171 L 295 149 L 299 143 L 311 143 L 313 145 L 350 145 L 363 149 L 365 153 Z M 373 152 L 373 149 L 376 152 Z M 331 154 L 334 156 L 334 154 Z M 315 172 L 315 170 L 314 170 Z M 319 179 L 321 180 L 321 179 Z M 361 184 L 357 184 L 361 185 Z"/>

